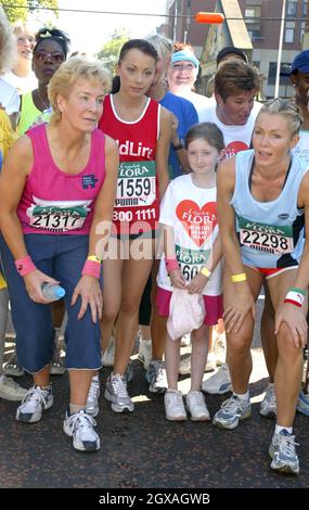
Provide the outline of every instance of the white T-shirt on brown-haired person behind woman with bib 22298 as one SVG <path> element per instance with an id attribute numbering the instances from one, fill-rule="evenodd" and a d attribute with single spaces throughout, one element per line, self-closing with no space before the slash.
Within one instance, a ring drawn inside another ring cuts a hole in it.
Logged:
<path id="1" fill-rule="evenodd" d="M 214 123 L 218 126 L 218 128 L 221 129 L 226 145 L 226 157 L 230 157 L 240 151 L 246 151 L 250 148 L 250 141 L 256 117 L 261 106 L 261 103 L 255 101 L 248 120 L 243 126 L 229 126 L 227 124 L 221 123 L 216 112 L 216 103 L 213 104 L 213 106 L 210 106 L 209 109 L 204 110 L 203 118 L 201 122 Z"/>

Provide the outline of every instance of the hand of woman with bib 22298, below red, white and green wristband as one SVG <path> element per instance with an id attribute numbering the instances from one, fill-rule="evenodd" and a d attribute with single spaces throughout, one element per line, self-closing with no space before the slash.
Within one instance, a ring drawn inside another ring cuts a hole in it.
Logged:
<path id="1" fill-rule="evenodd" d="M 301 308 L 289 303 L 282 303 L 275 311 L 274 334 L 278 334 L 283 322 L 291 330 L 292 341 L 296 347 L 307 344 L 308 324 Z"/>

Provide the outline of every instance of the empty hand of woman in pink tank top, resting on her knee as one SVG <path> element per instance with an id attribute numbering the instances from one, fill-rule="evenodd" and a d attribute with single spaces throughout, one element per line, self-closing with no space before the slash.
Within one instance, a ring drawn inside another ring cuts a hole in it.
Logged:
<path id="1" fill-rule="evenodd" d="M 70 301 L 72 306 L 76 304 L 78 296 L 81 298 L 81 306 L 77 316 L 78 320 L 85 316 L 88 305 L 91 309 L 93 322 L 96 322 L 98 318 L 102 318 L 103 298 L 98 278 L 89 277 L 88 275 L 82 276 L 74 290 Z"/>

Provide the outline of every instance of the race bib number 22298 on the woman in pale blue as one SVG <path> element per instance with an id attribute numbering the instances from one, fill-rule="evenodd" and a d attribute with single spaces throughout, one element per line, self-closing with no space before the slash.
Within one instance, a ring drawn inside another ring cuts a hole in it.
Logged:
<path id="1" fill-rule="evenodd" d="M 259 252 L 283 255 L 294 251 L 293 230 L 291 225 L 272 226 L 252 221 L 239 216 L 240 241 Z"/>

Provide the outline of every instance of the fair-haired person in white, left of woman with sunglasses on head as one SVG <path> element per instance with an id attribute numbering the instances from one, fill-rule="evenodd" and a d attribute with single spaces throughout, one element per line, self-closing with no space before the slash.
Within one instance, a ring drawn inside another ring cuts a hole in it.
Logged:
<path id="1" fill-rule="evenodd" d="M 31 26 L 25 22 L 14 23 L 13 33 L 17 43 L 17 59 L 12 69 L 5 73 L 3 78 L 17 89 L 18 94 L 25 94 L 38 86 L 38 80 L 31 68 L 36 37 Z"/>

